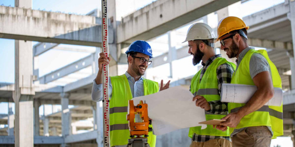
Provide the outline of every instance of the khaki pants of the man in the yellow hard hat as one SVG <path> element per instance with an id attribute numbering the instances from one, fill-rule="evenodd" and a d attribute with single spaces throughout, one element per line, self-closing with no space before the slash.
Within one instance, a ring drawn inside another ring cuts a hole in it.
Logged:
<path id="1" fill-rule="evenodd" d="M 269 147 L 271 132 L 266 126 L 252 126 L 232 137 L 233 147 Z"/>

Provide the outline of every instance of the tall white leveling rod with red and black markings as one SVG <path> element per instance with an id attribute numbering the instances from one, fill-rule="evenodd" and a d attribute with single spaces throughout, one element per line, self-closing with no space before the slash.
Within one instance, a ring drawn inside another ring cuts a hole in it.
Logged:
<path id="1" fill-rule="evenodd" d="M 101 33 L 102 33 L 102 52 L 109 57 L 108 50 L 108 11 L 107 0 L 101 0 Z M 110 147 L 110 108 L 109 108 L 109 65 L 102 67 L 103 83 L 103 147 Z"/>

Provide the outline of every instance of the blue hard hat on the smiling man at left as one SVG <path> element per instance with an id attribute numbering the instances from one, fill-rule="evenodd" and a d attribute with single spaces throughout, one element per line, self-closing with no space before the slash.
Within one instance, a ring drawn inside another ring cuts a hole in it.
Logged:
<path id="1" fill-rule="evenodd" d="M 129 52 L 141 52 L 148 55 L 149 58 L 152 58 L 151 48 L 149 44 L 143 40 L 133 42 L 125 53 L 128 55 Z"/>

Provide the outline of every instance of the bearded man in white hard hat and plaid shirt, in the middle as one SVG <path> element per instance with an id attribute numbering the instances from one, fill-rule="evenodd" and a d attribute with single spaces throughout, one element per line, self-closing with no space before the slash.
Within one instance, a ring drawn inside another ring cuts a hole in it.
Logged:
<path id="1" fill-rule="evenodd" d="M 236 65 L 222 58 L 214 51 L 215 35 L 213 29 L 204 23 L 190 26 L 186 39 L 188 53 L 193 55 L 193 65 L 202 60 L 203 68 L 195 74 L 191 81 L 190 91 L 194 94 L 196 106 L 205 109 L 206 120 L 221 119 L 227 115 L 227 103 L 220 101 L 221 85 L 230 83 Z M 190 147 L 232 147 L 229 131 L 221 131 L 207 125 L 191 127 L 189 137 Z"/>

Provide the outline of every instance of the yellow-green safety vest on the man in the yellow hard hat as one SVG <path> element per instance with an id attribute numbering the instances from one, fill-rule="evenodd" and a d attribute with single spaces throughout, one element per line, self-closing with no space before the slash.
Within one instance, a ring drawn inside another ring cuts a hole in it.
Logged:
<path id="1" fill-rule="evenodd" d="M 270 67 L 271 79 L 273 87 L 282 88 L 282 81 L 280 75 L 275 67 L 275 65 L 270 61 L 266 50 L 254 50 L 250 49 L 243 59 L 241 60 L 236 72 L 233 75 L 232 84 L 246 84 L 246 85 L 255 85 L 251 76 L 249 62 L 253 53 L 262 54 Z M 228 103 L 229 112 L 236 112 L 240 107 L 243 107 L 245 104 L 240 103 Z M 243 128 L 249 126 L 271 126 L 273 131 L 272 138 L 283 135 L 283 105 L 281 106 L 263 106 L 257 111 L 254 111 L 240 120 L 240 123 L 236 128 Z M 232 133 L 234 128 L 230 128 Z"/>

